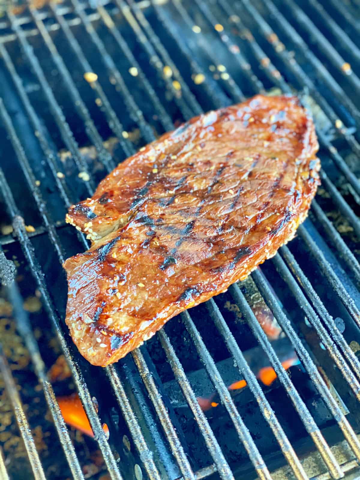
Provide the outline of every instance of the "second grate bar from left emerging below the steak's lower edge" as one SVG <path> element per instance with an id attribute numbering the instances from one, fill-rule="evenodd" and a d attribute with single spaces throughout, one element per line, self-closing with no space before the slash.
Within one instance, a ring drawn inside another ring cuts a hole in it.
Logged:
<path id="1" fill-rule="evenodd" d="M 161 396 L 159 395 L 159 391 L 156 387 L 154 378 L 150 373 L 150 370 L 144 360 L 144 356 L 140 351 L 140 348 L 135 348 L 132 351 L 132 358 L 139 370 L 141 378 L 143 379 L 144 385 L 146 386 L 147 391 L 149 392 L 149 396 L 153 405 L 155 407 L 156 413 L 161 421 L 161 426 L 165 432 L 165 435 L 168 439 L 168 442 L 171 447 L 171 451 L 176 458 L 180 471 L 184 475 L 186 479 L 194 480 L 194 474 L 192 472 L 192 468 L 190 466 L 189 460 L 185 455 L 184 449 L 181 445 L 179 440 L 178 434 L 176 433 L 174 426 L 170 420 L 167 408 Z"/>

